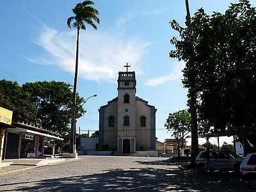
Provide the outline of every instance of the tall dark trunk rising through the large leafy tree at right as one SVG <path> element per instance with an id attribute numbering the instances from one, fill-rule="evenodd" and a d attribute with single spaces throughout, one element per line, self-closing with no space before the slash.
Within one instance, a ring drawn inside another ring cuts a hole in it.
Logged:
<path id="1" fill-rule="evenodd" d="M 188 26 L 191 22 L 191 16 L 189 12 L 189 2 L 185 0 L 186 3 L 186 25 Z M 191 79 L 194 81 L 194 79 Z M 196 107 L 196 91 L 195 91 L 195 81 L 191 83 L 192 87 L 189 88 L 189 108 L 191 110 L 191 159 L 190 165 L 195 166 L 196 156 L 198 154 L 198 125 L 197 125 L 197 107 Z"/>

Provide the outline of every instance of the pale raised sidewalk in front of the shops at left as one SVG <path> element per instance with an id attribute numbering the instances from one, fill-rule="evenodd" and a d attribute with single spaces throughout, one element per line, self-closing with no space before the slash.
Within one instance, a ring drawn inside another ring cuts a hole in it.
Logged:
<path id="1" fill-rule="evenodd" d="M 0 175 L 6 173 L 20 172 L 39 166 L 45 166 L 54 163 L 64 163 L 67 159 L 5 159 L 2 161 Z"/>

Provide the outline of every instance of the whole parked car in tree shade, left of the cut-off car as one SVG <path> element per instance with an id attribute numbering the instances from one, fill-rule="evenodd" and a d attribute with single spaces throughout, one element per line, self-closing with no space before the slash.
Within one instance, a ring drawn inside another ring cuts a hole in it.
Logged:
<path id="1" fill-rule="evenodd" d="M 209 158 L 207 158 L 209 157 Z M 240 164 L 243 157 L 235 156 L 227 152 L 204 150 L 196 157 L 196 165 L 199 168 L 206 168 L 207 170 L 236 170 L 239 172 Z"/>

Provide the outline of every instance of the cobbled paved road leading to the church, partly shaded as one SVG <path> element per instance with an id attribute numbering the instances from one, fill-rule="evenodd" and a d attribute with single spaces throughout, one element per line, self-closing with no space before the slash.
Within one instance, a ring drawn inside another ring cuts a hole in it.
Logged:
<path id="1" fill-rule="evenodd" d="M 200 175 L 164 158 L 83 156 L 0 177 L 0 191 L 245 191 L 239 177 Z M 255 191 L 255 190 L 251 190 Z"/>

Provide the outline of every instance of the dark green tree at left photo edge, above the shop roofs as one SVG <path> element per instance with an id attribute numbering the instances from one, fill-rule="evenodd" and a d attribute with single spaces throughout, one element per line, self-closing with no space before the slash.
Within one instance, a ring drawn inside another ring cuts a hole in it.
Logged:
<path id="1" fill-rule="evenodd" d="M 0 106 L 13 111 L 13 121 L 36 123 L 36 106 L 30 96 L 17 82 L 0 81 Z"/>

